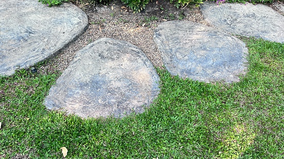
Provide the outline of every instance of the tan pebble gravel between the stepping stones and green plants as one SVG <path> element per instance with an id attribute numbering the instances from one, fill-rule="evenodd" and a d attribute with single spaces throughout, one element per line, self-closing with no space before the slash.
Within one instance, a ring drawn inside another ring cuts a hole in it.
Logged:
<path id="1" fill-rule="evenodd" d="M 204 20 L 200 8 L 187 6 L 184 9 L 177 9 L 173 4 L 162 0 L 150 2 L 144 11 L 137 14 L 132 13 L 120 1 L 113 1 L 108 6 L 96 6 L 81 0 L 81 3 L 75 2 L 75 5 L 88 15 L 89 27 L 58 56 L 43 65 L 41 73 L 64 71 L 78 50 L 102 37 L 125 40 L 134 44 L 146 54 L 154 66 L 163 69 L 161 55 L 153 40 L 154 29 L 161 22 L 189 20 L 210 26 Z M 269 6 L 283 14 L 274 5 Z"/>

